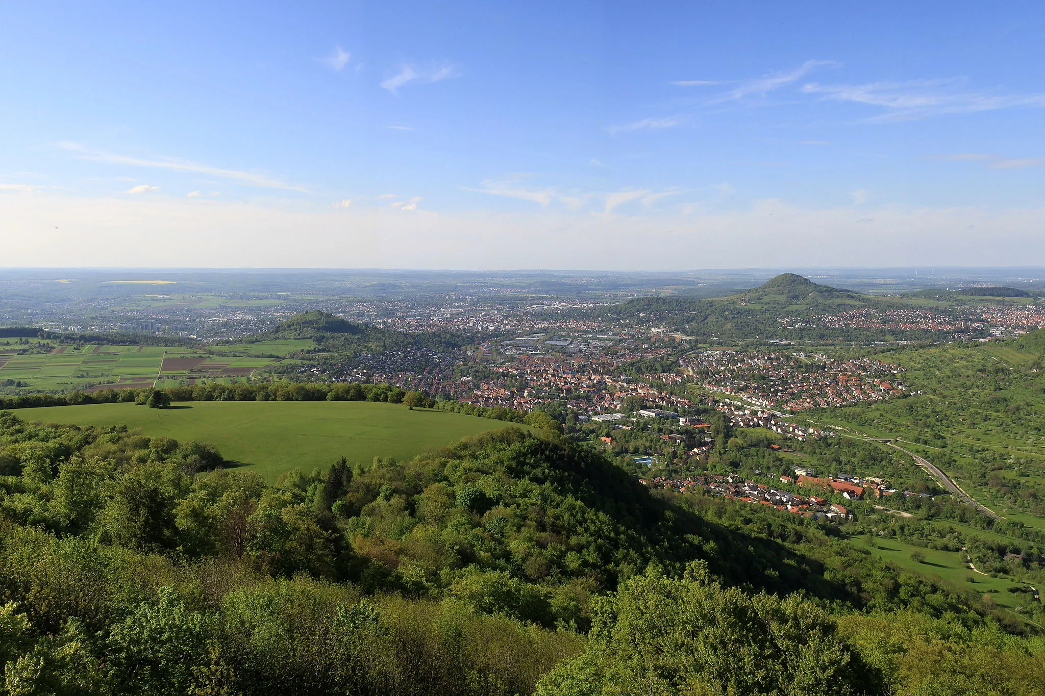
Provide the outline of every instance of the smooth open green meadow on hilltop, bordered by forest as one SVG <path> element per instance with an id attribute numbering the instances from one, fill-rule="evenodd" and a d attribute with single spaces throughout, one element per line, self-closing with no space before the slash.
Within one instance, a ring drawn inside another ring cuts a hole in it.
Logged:
<path id="1" fill-rule="evenodd" d="M 80 426 L 125 425 L 145 435 L 211 442 L 227 460 L 274 481 L 282 472 L 325 469 L 339 457 L 403 461 L 508 424 L 448 411 L 409 410 L 374 402 L 191 402 L 170 409 L 134 404 L 25 408 L 26 421 Z"/>

